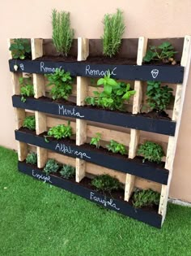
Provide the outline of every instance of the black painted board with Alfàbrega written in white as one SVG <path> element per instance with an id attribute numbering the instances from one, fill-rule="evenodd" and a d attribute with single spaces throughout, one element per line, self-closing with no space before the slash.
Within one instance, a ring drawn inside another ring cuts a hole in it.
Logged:
<path id="1" fill-rule="evenodd" d="M 66 141 L 66 143 L 63 144 L 55 140 L 47 143 L 43 137 L 17 130 L 15 131 L 15 139 L 17 141 L 52 150 L 58 154 L 66 154 L 72 158 L 81 158 L 90 163 L 95 163 L 116 171 L 129 173 L 146 180 L 152 180 L 160 184 L 168 183 L 169 171 L 164 168 L 153 167 L 152 164 L 149 165 L 147 163 L 138 163 L 134 161 L 134 159 L 117 158 L 109 154 L 102 154 L 102 152 L 88 150 L 87 148 L 84 149 L 83 145 L 75 145 L 74 141 L 71 141 L 71 143 Z"/>

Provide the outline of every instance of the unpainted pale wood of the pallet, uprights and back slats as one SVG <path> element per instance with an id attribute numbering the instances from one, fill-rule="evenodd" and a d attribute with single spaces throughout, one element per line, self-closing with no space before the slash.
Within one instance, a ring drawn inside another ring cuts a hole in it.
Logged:
<path id="1" fill-rule="evenodd" d="M 9 46 L 11 44 L 9 41 Z M 78 61 L 83 62 L 83 60 L 87 59 L 89 54 L 89 41 L 86 38 L 79 38 L 78 41 Z M 32 59 L 36 59 L 41 57 L 43 54 L 43 39 L 31 39 L 32 44 Z M 139 37 L 138 40 L 138 56 L 137 56 L 137 65 L 142 66 L 142 59 L 146 53 L 147 47 L 147 39 L 145 37 Z M 40 146 L 36 146 L 37 153 L 37 167 L 42 168 L 45 166 L 48 158 L 55 158 L 60 163 L 69 163 L 72 166 L 76 167 L 76 182 L 80 182 L 84 176 L 89 175 L 100 175 L 103 173 L 108 173 L 111 176 L 117 176 L 117 178 L 121 181 L 121 183 L 125 184 L 125 201 L 128 202 L 129 198 L 134 191 L 135 187 L 140 189 L 153 189 L 158 191 L 160 196 L 159 202 L 159 215 L 162 215 L 162 219 L 165 219 L 167 202 L 168 202 L 168 193 L 172 180 L 172 171 L 173 171 L 173 163 L 176 153 L 176 143 L 180 128 L 180 119 L 181 113 L 183 109 L 183 103 L 185 98 L 185 89 L 187 85 L 187 80 L 189 76 L 189 64 L 190 64 L 190 56 L 191 56 L 191 37 L 186 36 L 184 41 L 183 53 L 181 57 L 180 65 L 185 67 L 184 80 L 182 84 L 176 85 L 176 95 L 175 95 L 175 103 L 172 111 L 172 120 L 176 122 L 176 131 L 175 136 L 169 136 L 163 139 L 163 137 L 159 137 L 158 139 L 154 139 L 154 141 L 159 141 L 163 145 L 166 146 L 166 158 L 163 158 L 165 161 L 165 168 L 169 170 L 168 176 L 168 184 L 159 184 L 153 181 L 144 180 L 140 177 L 133 176 L 131 174 L 125 174 L 120 171 L 114 171 L 108 169 L 107 167 L 100 167 L 93 163 L 87 163 L 84 159 L 70 158 L 64 155 L 53 153 L 45 148 Z M 24 73 L 23 73 L 24 75 Z M 19 77 L 22 76 L 22 73 L 13 72 L 12 73 L 12 83 L 13 83 L 13 92 L 15 95 L 19 95 Z M 40 98 L 41 96 L 45 96 L 49 89 L 46 88 L 46 79 L 42 74 L 32 74 L 32 80 L 35 91 L 35 98 Z M 136 90 L 136 94 L 134 96 L 134 100 L 131 102 L 133 114 L 137 114 L 140 112 L 143 98 L 143 82 L 141 80 L 134 81 L 134 89 Z M 73 89 L 73 97 L 76 98 L 77 106 L 84 106 L 85 98 L 89 95 L 92 95 L 93 88 L 90 85 L 90 80 L 87 77 L 77 76 L 76 87 Z M 16 115 L 16 129 L 19 129 L 23 124 L 23 119 L 28 112 L 23 108 L 15 108 Z M 30 114 L 29 114 L 30 115 Z M 61 116 L 51 116 L 47 113 L 43 113 L 40 111 L 35 111 L 36 117 L 36 134 L 40 134 L 42 132 L 47 131 L 48 128 L 53 127 L 57 124 L 65 124 L 67 121 L 66 117 Z M 138 145 L 143 141 L 149 138 L 149 135 L 144 132 L 134 129 L 134 128 L 119 128 L 116 126 L 111 126 L 107 124 L 97 124 L 91 123 L 86 119 L 71 119 L 71 126 L 76 133 L 76 145 L 83 145 L 88 141 L 88 138 L 93 137 L 96 132 L 100 132 L 102 135 L 103 141 L 110 141 L 111 139 L 116 140 L 125 144 L 129 148 L 129 158 L 134 158 L 136 156 L 136 152 L 138 150 Z M 19 161 L 23 161 L 27 154 L 28 150 L 35 150 L 34 147 L 29 147 L 28 144 L 22 141 L 18 141 L 18 154 Z M 163 221 L 162 221 L 163 223 Z M 161 224 L 162 224 L 161 223 Z"/>

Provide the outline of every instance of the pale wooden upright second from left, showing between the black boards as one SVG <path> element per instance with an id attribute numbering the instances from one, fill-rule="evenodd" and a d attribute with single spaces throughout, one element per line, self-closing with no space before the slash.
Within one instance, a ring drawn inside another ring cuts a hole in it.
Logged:
<path id="1" fill-rule="evenodd" d="M 32 59 L 39 58 L 43 55 L 43 40 L 39 38 L 32 38 Z M 45 76 L 39 74 L 33 74 L 33 85 L 35 98 L 45 96 Z M 47 131 L 46 115 L 39 111 L 35 111 L 36 119 L 36 134 Z M 48 151 L 36 147 L 37 152 L 37 167 L 42 168 L 45 166 L 48 158 Z"/>

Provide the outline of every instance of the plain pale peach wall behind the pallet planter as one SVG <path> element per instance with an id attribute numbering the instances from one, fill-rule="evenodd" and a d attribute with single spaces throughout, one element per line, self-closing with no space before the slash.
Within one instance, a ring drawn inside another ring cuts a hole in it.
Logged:
<path id="1" fill-rule="evenodd" d="M 185 37 L 191 34 L 190 0 L 17 0 L 0 1 L 1 24 L 1 125 L 0 145 L 16 149 L 14 139 L 15 115 L 11 106 L 11 74 L 8 67 L 7 38 L 50 38 L 51 11 L 70 11 L 75 37 L 100 38 L 101 20 L 105 13 L 120 8 L 124 11 L 126 30 L 124 37 L 148 38 Z M 170 196 L 191 202 L 191 72 L 185 95 L 185 106 L 180 124 L 180 136 Z"/>

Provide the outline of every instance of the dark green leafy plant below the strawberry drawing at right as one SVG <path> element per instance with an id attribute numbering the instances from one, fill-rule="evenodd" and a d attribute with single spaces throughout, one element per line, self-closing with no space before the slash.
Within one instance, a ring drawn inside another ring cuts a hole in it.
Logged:
<path id="1" fill-rule="evenodd" d="M 168 85 L 161 86 L 160 82 L 147 81 L 146 102 L 155 111 L 165 111 L 172 101 L 173 89 Z"/>

